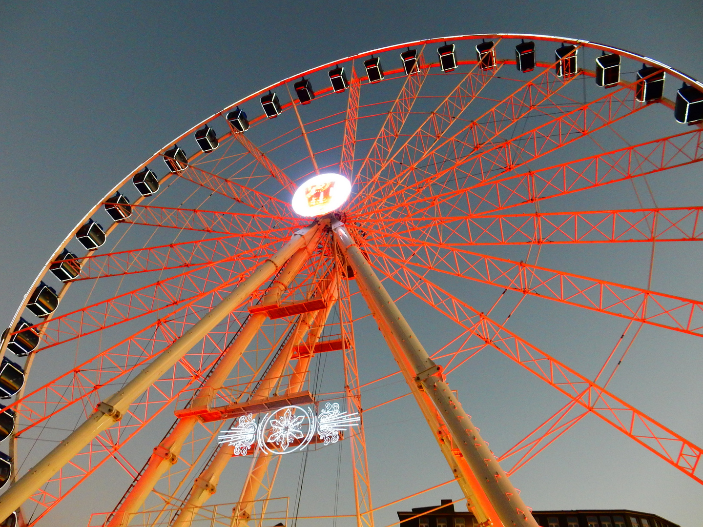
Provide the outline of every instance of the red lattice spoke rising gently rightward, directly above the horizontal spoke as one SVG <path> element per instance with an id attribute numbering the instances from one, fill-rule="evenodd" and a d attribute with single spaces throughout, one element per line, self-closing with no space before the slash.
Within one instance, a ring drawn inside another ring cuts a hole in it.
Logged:
<path id="1" fill-rule="evenodd" d="M 470 214 L 489 214 L 683 167 L 703 160 L 701 134 L 700 129 L 695 129 L 552 167 L 476 183 L 448 193 L 438 193 L 432 196 L 429 208 L 451 203 Z M 415 216 L 428 208 L 426 198 L 408 200 L 406 204 L 416 207 Z M 424 209 L 420 208 L 423 204 Z"/>

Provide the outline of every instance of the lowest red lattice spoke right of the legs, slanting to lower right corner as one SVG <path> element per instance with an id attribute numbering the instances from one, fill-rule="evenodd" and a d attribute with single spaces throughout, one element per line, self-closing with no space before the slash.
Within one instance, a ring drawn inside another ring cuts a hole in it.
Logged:
<path id="1" fill-rule="evenodd" d="M 461 327 L 470 330 L 479 341 L 484 341 L 503 353 L 690 478 L 703 483 L 703 474 L 697 471 L 703 449 L 692 441 L 628 405 L 588 377 L 529 344 L 412 269 L 391 266 L 389 261 L 381 259 L 372 263 L 389 280 L 433 306 Z"/>

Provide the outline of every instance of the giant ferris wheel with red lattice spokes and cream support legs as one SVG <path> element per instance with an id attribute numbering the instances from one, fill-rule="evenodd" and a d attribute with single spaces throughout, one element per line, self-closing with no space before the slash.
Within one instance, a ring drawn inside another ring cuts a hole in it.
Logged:
<path id="1" fill-rule="evenodd" d="M 485 525 L 536 526 L 509 476 L 586 422 L 703 483 L 695 438 L 612 389 L 642 334 L 703 336 L 697 277 L 653 278 L 655 247 L 673 275 L 703 239 L 702 123 L 695 79 L 530 34 L 359 53 L 208 117 L 86 213 L 8 323 L 4 526 L 77 502 L 91 526 L 286 524 L 318 454 L 338 488 L 342 445 L 349 510 L 306 521 L 373 526 L 370 453 L 411 455 L 366 429 L 408 401 Z M 579 325 L 610 344 L 575 360 Z M 484 356 L 560 400 L 504 452 L 459 402 Z"/>

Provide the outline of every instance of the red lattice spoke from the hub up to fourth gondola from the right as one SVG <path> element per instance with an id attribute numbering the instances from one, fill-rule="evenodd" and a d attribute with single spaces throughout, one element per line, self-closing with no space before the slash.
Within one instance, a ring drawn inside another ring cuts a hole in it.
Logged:
<path id="1" fill-rule="evenodd" d="M 368 193 L 359 200 L 358 206 L 363 207 L 371 202 L 382 203 L 386 197 L 394 195 L 399 186 L 407 186 L 406 179 L 411 178 L 409 184 L 417 183 L 415 170 L 419 164 L 429 164 L 431 167 L 441 167 L 447 159 L 456 159 L 458 151 L 462 151 L 467 144 L 471 145 L 472 152 L 488 148 L 496 140 L 500 140 L 501 134 L 530 112 L 540 112 L 540 106 L 550 101 L 567 86 L 573 79 L 566 81 L 551 74 L 551 68 L 542 70 L 529 82 L 515 90 L 509 96 L 496 103 L 493 108 L 483 115 L 473 119 L 449 138 L 442 138 L 439 144 L 434 144 L 429 150 L 418 157 L 415 162 L 399 172 L 394 178 L 385 182 L 378 190 Z M 581 73 L 579 73 L 581 74 Z M 575 79 L 576 77 L 574 77 Z M 569 103 L 572 101 L 569 100 Z M 437 157 L 437 159 L 435 159 Z M 432 159 L 431 162 L 426 162 Z M 368 207 L 367 207 L 368 208 Z"/>

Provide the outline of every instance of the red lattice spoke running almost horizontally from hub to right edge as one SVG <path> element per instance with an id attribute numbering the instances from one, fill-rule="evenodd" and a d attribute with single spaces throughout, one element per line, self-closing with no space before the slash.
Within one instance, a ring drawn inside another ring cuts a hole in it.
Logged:
<path id="1" fill-rule="evenodd" d="M 398 233 L 378 233 L 380 247 L 679 242 L 703 240 L 703 207 L 534 214 L 435 216 L 398 221 Z M 405 225 L 403 223 L 406 223 Z M 421 235 L 422 240 L 412 237 Z"/>

